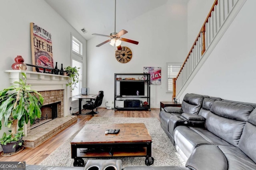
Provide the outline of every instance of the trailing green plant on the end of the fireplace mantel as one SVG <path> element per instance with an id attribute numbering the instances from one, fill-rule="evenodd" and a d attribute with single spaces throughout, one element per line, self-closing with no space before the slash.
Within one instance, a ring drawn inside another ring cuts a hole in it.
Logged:
<path id="1" fill-rule="evenodd" d="M 70 77 L 66 86 L 69 86 L 72 90 L 74 90 L 74 88 L 76 87 L 76 83 L 78 83 L 79 69 L 80 67 L 76 68 L 76 66 L 74 67 L 67 66 L 65 68 L 65 71 L 67 72 L 67 76 Z"/>

